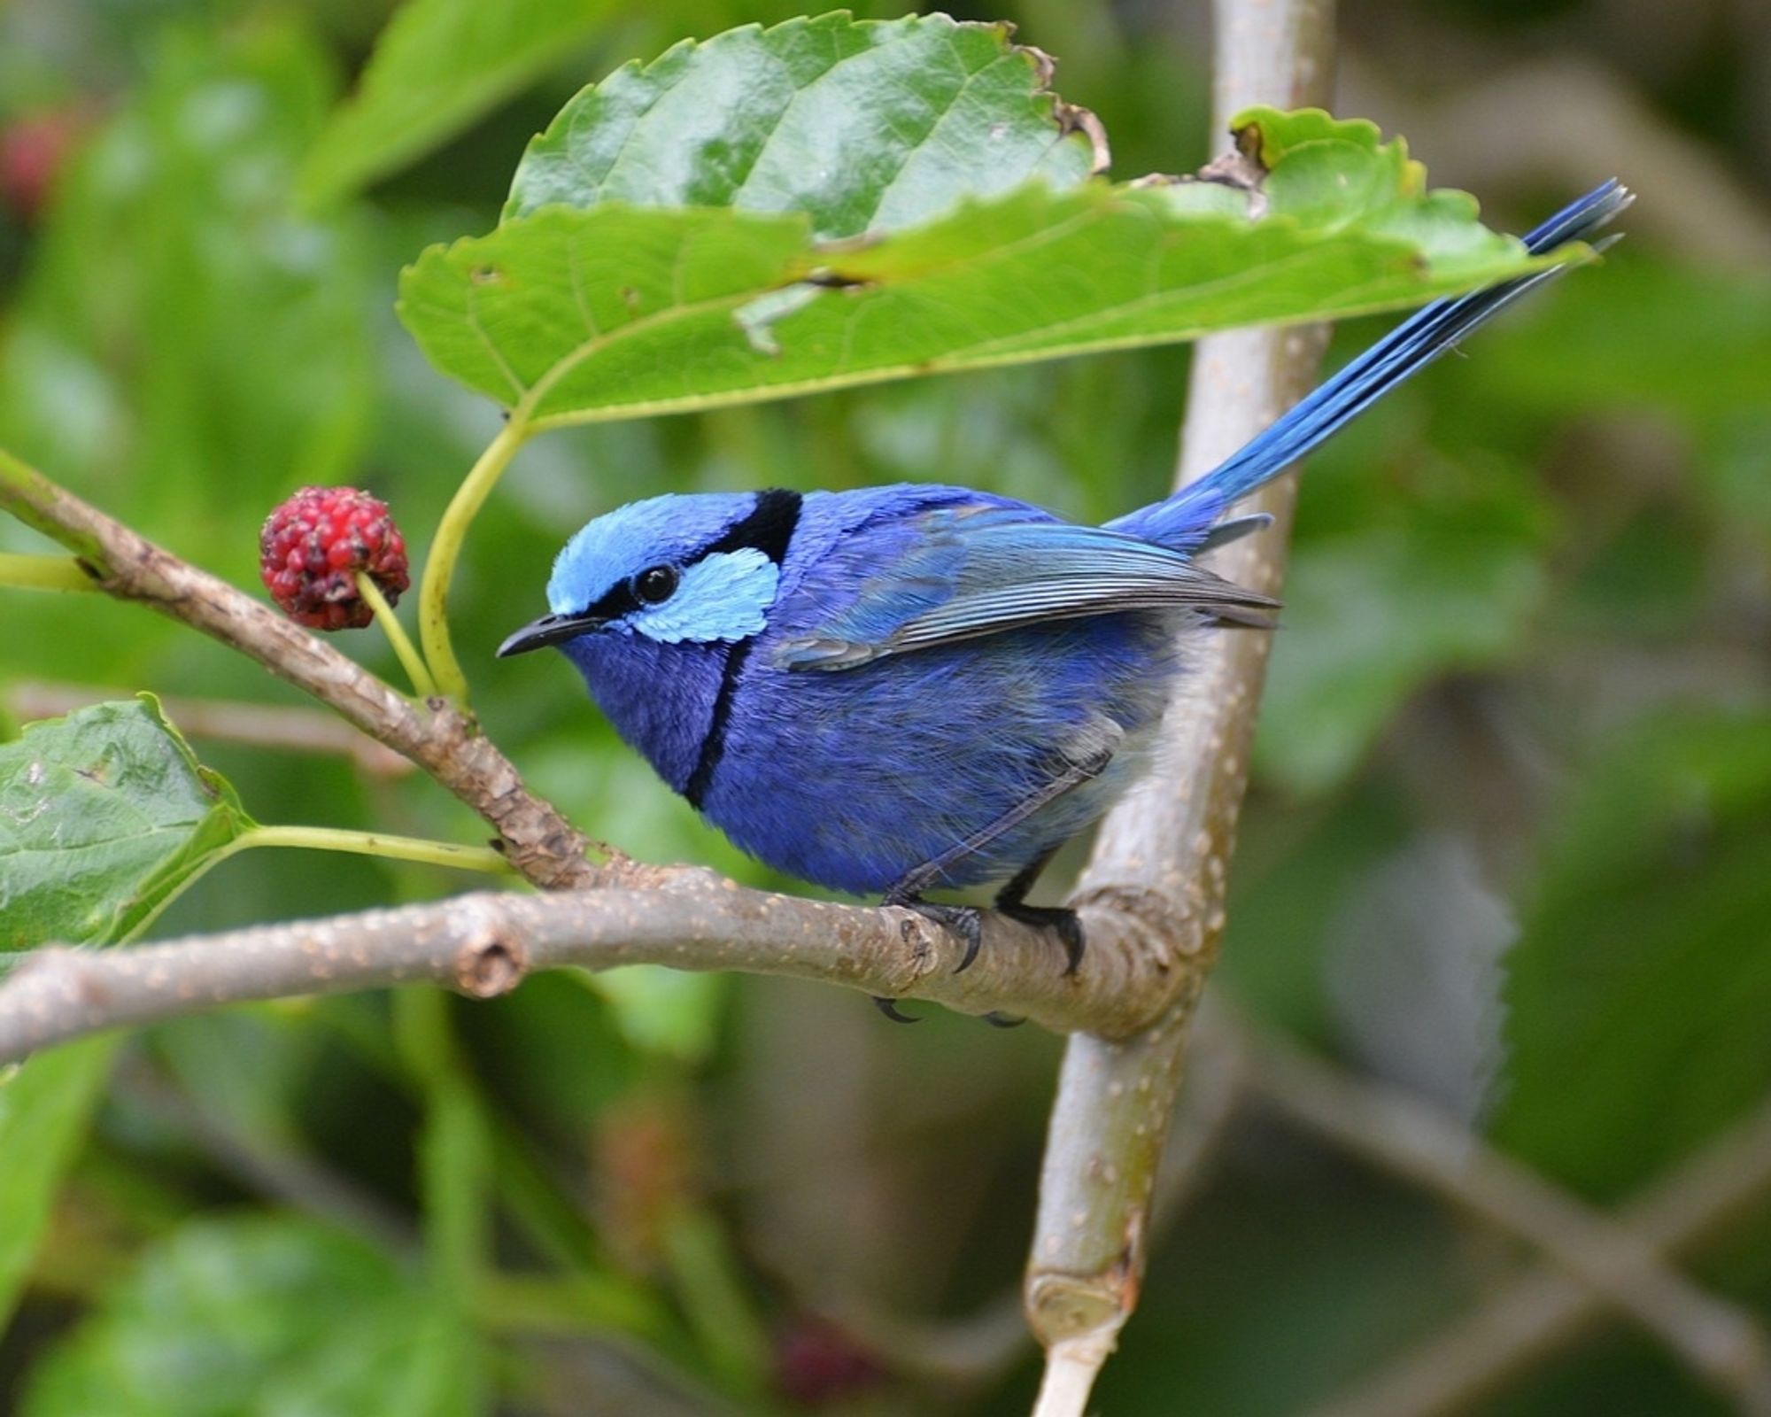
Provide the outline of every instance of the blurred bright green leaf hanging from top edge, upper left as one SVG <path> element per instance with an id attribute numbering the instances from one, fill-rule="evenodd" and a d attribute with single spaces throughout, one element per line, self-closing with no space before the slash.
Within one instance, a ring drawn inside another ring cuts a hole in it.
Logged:
<path id="1" fill-rule="evenodd" d="M 308 154 L 303 197 L 333 200 L 423 156 L 568 55 L 609 9 L 609 0 L 407 0 Z"/>

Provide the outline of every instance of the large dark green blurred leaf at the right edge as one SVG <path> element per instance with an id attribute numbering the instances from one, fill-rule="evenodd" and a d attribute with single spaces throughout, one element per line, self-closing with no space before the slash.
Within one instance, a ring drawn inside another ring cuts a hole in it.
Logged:
<path id="1" fill-rule="evenodd" d="M 1771 717 L 1612 744 L 1543 857 L 1511 955 L 1496 1135 L 1610 1199 L 1771 1086 Z"/>

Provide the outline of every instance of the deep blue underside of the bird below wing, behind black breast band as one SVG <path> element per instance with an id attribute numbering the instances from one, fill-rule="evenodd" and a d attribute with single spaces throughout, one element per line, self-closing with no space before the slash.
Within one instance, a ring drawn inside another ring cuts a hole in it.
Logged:
<path id="1" fill-rule="evenodd" d="M 1100 616 L 822 675 L 772 666 L 770 629 L 746 662 L 701 809 L 777 870 L 877 894 L 1050 783 L 1109 719 L 1126 742 L 1107 772 L 942 884 L 1004 879 L 1128 786 L 1167 700 L 1174 631 L 1167 616 Z"/>

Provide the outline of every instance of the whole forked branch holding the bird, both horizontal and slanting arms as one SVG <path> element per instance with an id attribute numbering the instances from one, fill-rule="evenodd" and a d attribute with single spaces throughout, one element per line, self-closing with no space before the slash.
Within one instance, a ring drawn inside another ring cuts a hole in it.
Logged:
<path id="1" fill-rule="evenodd" d="M 101 590 L 250 655 L 416 762 L 498 829 L 512 866 L 533 884 L 584 891 L 558 905 L 482 896 L 469 898 L 478 902 L 471 910 L 452 902 L 103 956 L 44 949 L 0 985 L 0 1056 L 248 999 L 406 980 L 499 992 L 545 964 L 650 960 L 795 974 L 1102 1036 L 1137 1031 L 1178 992 L 1195 988 L 1192 962 L 1174 948 L 1185 932 L 1171 903 L 1135 882 L 1102 893 L 1087 910 L 1089 962 L 1079 976 L 1059 971 L 1047 935 L 990 919 L 985 962 L 944 981 L 935 976 L 956 967 L 958 942 L 919 916 L 740 891 L 705 871 L 643 866 L 600 845 L 611 861 L 592 866 L 584 852 L 593 843 L 528 792 L 510 762 L 446 700 L 413 703 L 276 611 L 5 452 L 0 508 L 62 542 Z M 469 960 L 491 951 L 485 972 L 462 965 L 462 949 Z"/>

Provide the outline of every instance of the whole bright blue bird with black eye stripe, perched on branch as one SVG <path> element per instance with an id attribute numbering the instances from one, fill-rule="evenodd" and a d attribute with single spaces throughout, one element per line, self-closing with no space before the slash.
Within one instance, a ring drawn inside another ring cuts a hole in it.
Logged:
<path id="1" fill-rule="evenodd" d="M 1629 202 L 1615 181 L 1525 237 L 1548 252 Z M 1558 269 L 1417 312 L 1208 476 L 1107 526 L 935 484 L 707 492 L 597 517 L 560 553 L 549 615 L 499 655 L 558 645 L 620 735 L 760 861 L 955 928 L 924 891 L 1006 880 L 1146 767 L 1188 631 L 1266 629 L 1277 602 L 1199 553 L 1266 524 L 1229 508 Z M 889 1001 L 880 1001 L 889 1011 Z"/>

